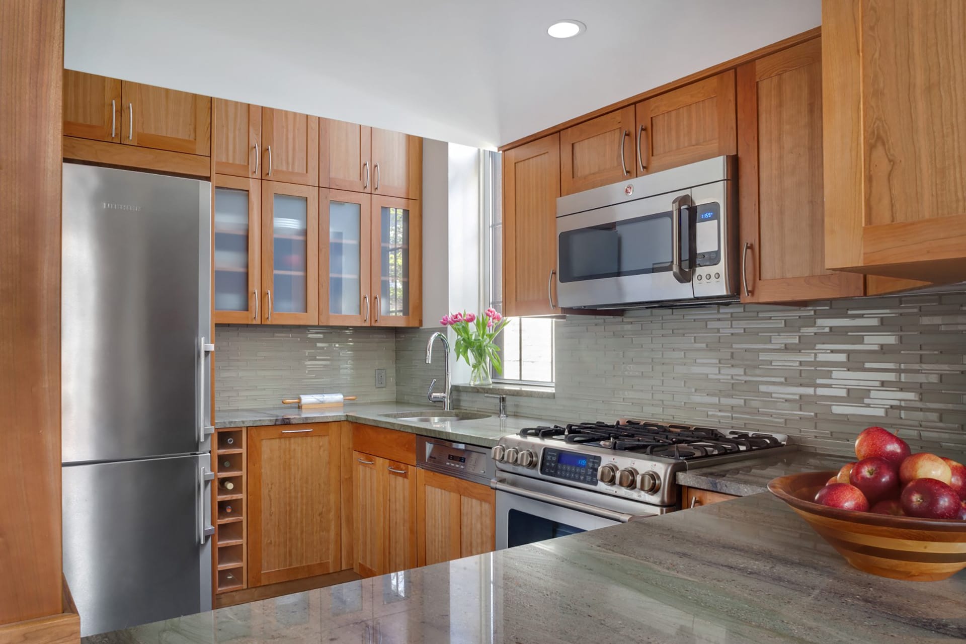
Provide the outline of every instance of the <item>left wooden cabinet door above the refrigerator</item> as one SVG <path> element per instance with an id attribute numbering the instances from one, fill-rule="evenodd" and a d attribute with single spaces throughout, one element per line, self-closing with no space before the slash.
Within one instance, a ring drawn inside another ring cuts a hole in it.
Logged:
<path id="1" fill-rule="evenodd" d="M 121 81 L 64 70 L 64 136 L 121 142 Z"/>

